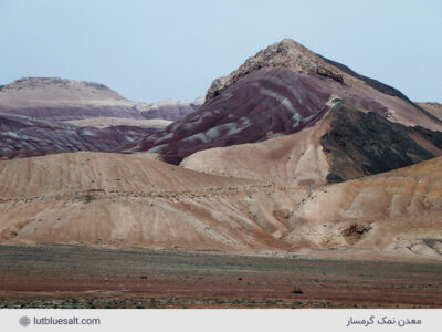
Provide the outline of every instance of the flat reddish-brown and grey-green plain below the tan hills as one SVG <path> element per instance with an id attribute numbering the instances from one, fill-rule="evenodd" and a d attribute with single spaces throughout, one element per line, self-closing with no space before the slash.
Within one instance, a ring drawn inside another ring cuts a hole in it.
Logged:
<path id="1" fill-rule="evenodd" d="M 307 259 L 0 246 L 0 308 L 442 308 L 440 261 L 327 251 Z"/>

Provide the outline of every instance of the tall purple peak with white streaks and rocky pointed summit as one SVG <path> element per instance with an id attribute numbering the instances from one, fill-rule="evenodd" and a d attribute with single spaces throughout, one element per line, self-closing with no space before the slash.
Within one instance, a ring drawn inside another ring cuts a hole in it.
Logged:
<path id="1" fill-rule="evenodd" d="M 155 152 L 179 164 L 199 151 L 301 132 L 327 114 L 335 98 L 393 123 L 442 131 L 438 117 L 396 89 L 283 40 L 215 80 L 198 111 L 119 151 Z"/>

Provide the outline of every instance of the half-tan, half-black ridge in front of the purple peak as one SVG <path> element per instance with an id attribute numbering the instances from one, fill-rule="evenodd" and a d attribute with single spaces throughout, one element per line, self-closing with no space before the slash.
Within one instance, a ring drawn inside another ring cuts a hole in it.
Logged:
<path id="1" fill-rule="evenodd" d="M 299 133 L 201 151 L 185 158 L 181 166 L 278 185 L 316 187 L 442 155 L 441 132 L 392 123 L 337 98 L 333 104 L 327 115 Z"/>

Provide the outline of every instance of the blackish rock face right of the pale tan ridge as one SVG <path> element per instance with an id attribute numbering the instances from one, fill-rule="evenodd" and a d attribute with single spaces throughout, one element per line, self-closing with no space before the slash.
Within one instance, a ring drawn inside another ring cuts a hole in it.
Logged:
<path id="1" fill-rule="evenodd" d="M 418 164 L 442 155 L 442 133 L 407 127 L 375 112 L 339 104 L 327 114 L 330 129 L 320 137 L 330 160 L 328 183 Z"/>

